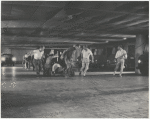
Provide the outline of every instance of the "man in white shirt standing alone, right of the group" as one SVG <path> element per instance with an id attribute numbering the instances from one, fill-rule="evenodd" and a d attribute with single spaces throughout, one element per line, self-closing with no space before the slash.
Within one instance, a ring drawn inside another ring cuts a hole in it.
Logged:
<path id="1" fill-rule="evenodd" d="M 116 53 L 115 58 L 117 59 L 117 64 L 116 64 L 116 67 L 115 67 L 113 75 L 115 75 L 116 71 L 118 70 L 119 66 L 121 65 L 119 76 L 122 77 L 122 72 L 123 72 L 123 68 L 124 68 L 124 62 L 125 62 L 125 59 L 127 59 L 127 52 L 125 50 L 123 50 L 121 45 L 118 46 L 118 51 Z"/>

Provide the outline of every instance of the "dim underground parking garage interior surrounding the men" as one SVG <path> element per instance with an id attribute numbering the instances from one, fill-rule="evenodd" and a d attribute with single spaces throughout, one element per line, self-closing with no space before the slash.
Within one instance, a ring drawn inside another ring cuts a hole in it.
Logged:
<path id="1" fill-rule="evenodd" d="M 58 64 L 74 45 L 74 76 L 43 69 L 37 77 L 32 63 L 24 67 L 37 46 Z M 79 76 L 84 45 L 94 61 Z M 122 77 L 113 76 L 119 45 L 127 53 Z M 148 1 L 2 1 L 1 117 L 148 118 L 148 48 Z"/>

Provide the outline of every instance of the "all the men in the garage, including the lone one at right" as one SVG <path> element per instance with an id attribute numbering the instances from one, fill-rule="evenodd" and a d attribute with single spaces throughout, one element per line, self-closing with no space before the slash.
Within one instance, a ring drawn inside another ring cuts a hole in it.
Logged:
<path id="1" fill-rule="evenodd" d="M 68 60 L 65 60 L 65 55 L 66 58 L 71 59 L 72 53 L 70 51 L 75 51 L 80 48 L 80 45 L 74 45 L 73 47 L 68 48 L 65 50 L 62 55 L 60 56 L 60 59 L 65 62 L 65 65 L 67 67 Z M 49 54 L 45 55 L 44 54 L 44 49 L 45 47 L 37 47 L 36 50 L 33 50 L 29 53 L 26 53 L 23 56 L 23 61 L 25 63 L 25 68 L 28 69 L 30 68 L 30 64 L 33 65 L 33 70 L 35 68 L 37 75 L 40 75 L 41 70 L 49 69 L 50 71 L 54 72 L 54 68 L 60 67 L 61 63 L 56 63 L 55 65 L 51 65 L 51 61 L 53 58 L 58 58 L 58 54 L 54 55 L 54 51 L 51 50 Z M 89 64 L 90 64 L 90 56 L 91 56 L 91 62 L 94 62 L 94 56 L 92 51 L 87 47 L 87 45 L 83 45 L 82 50 L 78 53 L 77 57 L 80 57 L 80 61 L 82 62 L 82 67 L 80 68 L 79 75 L 86 76 L 86 72 L 89 69 Z M 115 58 L 117 59 L 116 67 L 114 69 L 114 74 L 116 74 L 116 71 L 118 70 L 119 66 L 121 65 L 120 68 L 120 74 L 119 76 L 122 77 L 122 72 L 124 68 L 124 62 L 125 59 L 127 59 L 127 53 L 125 50 L 123 50 L 122 46 L 118 46 L 118 51 L 116 53 Z M 69 63 L 68 63 L 69 64 Z"/>

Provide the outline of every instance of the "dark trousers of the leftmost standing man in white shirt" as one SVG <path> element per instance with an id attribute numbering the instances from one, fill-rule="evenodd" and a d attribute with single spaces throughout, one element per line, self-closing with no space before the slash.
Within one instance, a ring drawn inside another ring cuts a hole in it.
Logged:
<path id="1" fill-rule="evenodd" d="M 34 59 L 33 64 L 35 66 L 35 70 L 37 74 L 40 74 L 41 68 L 42 68 L 42 61 L 41 59 Z"/>

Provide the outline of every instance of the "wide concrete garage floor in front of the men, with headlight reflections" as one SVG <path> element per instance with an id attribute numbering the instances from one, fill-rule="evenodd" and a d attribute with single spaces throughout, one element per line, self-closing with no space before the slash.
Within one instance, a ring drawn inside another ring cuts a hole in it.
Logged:
<path id="1" fill-rule="evenodd" d="M 120 78 L 111 73 L 37 78 L 32 70 L 3 67 L 1 116 L 148 118 L 148 77 L 126 72 Z"/>

